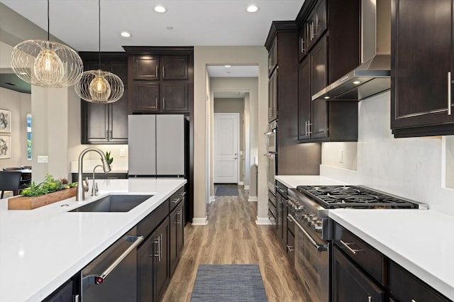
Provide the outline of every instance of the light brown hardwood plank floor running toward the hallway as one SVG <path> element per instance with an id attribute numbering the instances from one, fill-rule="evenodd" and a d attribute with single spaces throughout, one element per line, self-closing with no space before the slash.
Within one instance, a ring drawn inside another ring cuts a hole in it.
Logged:
<path id="1" fill-rule="evenodd" d="M 268 301 L 307 301 L 271 225 L 256 225 L 257 202 L 216 196 L 206 226 L 184 228 L 182 258 L 162 301 L 190 301 L 199 264 L 259 264 Z"/>

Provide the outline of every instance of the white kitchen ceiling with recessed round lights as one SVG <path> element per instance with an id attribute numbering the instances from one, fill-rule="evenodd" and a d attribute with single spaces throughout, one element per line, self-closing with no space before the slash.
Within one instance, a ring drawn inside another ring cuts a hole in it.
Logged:
<path id="1" fill-rule="evenodd" d="M 0 0 L 47 30 L 46 0 Z M 264 45 L 272 21 L 294 20 L 304 0 L 101 0 L 101 51 L 122 45 Z M 153 8 L 162 4 L 165 13 Z M 249 4 L 259 10 L 248 13 Z M 98 1 L 50 0 L 50 33 L 78 51 L 98 50 Z M 167 29 L 172 26 L 172 30 Z M 131 38 L 122 38 L 123 30 Z M 47 37 L 36 37 L 45 39 Z"/>

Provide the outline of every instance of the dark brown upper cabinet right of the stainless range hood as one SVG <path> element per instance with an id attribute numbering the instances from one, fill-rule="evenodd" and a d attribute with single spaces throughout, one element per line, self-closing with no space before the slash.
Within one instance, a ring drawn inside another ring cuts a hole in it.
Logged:
<path id="1" fill-rule="evenodd" d="M 451 135 L 453 1 L 416 2 L 392 0 L 392 133 L 396 138 Z"/>

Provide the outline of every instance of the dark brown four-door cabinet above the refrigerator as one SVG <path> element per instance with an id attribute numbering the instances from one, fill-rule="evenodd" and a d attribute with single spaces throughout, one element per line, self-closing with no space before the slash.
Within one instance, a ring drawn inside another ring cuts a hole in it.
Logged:
<path id="1" fill-rule="evenodd" d="M 192 47 L 124 47 L 131 113 L 189 113 L 194 86 Z"/>

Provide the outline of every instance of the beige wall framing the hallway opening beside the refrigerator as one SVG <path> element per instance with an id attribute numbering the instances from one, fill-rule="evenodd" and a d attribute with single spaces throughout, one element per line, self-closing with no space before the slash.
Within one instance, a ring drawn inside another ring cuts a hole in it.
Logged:
<path id="1" fill-rule="evenodd" d="M 206 203 L 209 188 L 206 178 L 206 167 L 209 165 L 209 154 L 206 144 L 209 135 L 206 127 L 210 125 L 207 114 L 206 99 L 206 65 L 258 65 L 258 106 L 254 112 L 257 117 L 253 120 L 250 113 L 251 132 L 265 133 L 267 128 L 267 50 L 263 46 L 196 46 L 194 47 L 194 224 L 204 224 L 207 221 Z M 253 96 L 250 96 L 251 100 Z M 252 103 L 252 101 L 251 101 Z M 256 125 L 253 126 L 253 123 Z M 255 128 L 257 127 L 257 128 Z M 265 135 L 258 136 L 258 154 L 265 154 Z M 252 142 L 251 142 L 252 144 Z M 251 150 L 253 147 L 251 145 Z M 259 157 L 258 175 L 258 222 L 267 220 L 267 181 L 265 157 Z"/>

